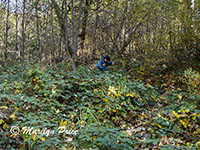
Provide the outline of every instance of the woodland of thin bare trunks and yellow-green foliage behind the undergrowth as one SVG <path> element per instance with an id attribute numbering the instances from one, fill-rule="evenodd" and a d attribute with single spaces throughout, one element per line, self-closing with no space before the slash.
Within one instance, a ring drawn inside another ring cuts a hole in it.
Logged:
<path id="1" fill-rule="evenodd" d="M 89 65 L 105 54 L 126 65 L 133 59 L 168 67 L 199 60 L 199 1 L 66 2 L 1 0 L 1 64 L 71 59 Z"/>

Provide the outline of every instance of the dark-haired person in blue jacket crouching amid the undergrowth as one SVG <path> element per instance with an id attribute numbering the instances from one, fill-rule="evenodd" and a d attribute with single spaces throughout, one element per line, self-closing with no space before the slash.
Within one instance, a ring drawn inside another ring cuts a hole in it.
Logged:
<path id="1" fill-rule="evenodd" d="M 101 71 L 107 71 L 107 67 L 109 65 L 112 65 L 112 62 L 110 61 L 110 56 L 105 56 L 101 58 L 96 67 Z"/>

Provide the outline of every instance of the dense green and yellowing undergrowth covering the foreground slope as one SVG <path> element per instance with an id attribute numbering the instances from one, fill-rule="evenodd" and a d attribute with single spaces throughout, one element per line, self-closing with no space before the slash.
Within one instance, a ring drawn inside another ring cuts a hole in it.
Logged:
<path id="1" fill-rule="evenodd" d="M 130 72 L 80 66 L 74 73 L 69 65 L 31 64 L 24 72 L 17 65 L 1 73 L 0 148 L 200 149 L 197 71 L 182 72 L 177 87 L 173 79 L 158 86 Z M 142 67 L 135 72 L 145 74 Z"/>

